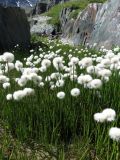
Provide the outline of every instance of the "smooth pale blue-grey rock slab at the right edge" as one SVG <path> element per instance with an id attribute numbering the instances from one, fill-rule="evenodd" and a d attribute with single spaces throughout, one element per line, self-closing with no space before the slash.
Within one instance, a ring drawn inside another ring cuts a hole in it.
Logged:
<path id="1" fill-rule="evenodd" d="M 103 4 L 96 15 L 95 29 L 89 43 L 108 49 L 120 45 L 120 0 L 109 0 Z"/>

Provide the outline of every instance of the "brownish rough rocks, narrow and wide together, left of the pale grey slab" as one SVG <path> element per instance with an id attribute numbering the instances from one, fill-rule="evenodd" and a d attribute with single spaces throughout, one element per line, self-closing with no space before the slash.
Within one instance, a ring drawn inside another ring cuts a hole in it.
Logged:
<path id="1" fill-rule="evenodd" d="M 79 13 L 76 20 L 70 19 L 71 9 L 62 11 L 62 38 L 70 39 L 74 45 L 87 43 L 92 31 L 94 30 L 95 18 L 101 4 L 93 3 Z"/>

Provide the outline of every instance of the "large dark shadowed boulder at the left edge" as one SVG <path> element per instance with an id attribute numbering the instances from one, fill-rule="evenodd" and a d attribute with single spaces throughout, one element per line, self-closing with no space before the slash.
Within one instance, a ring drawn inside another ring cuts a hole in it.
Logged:
<path id="1" fill-rule="evenodd" d="M 0 50 L 16 44 L 26 48 L 30 44 L 30 27 L 24 10 L 0 6 Z"/>

